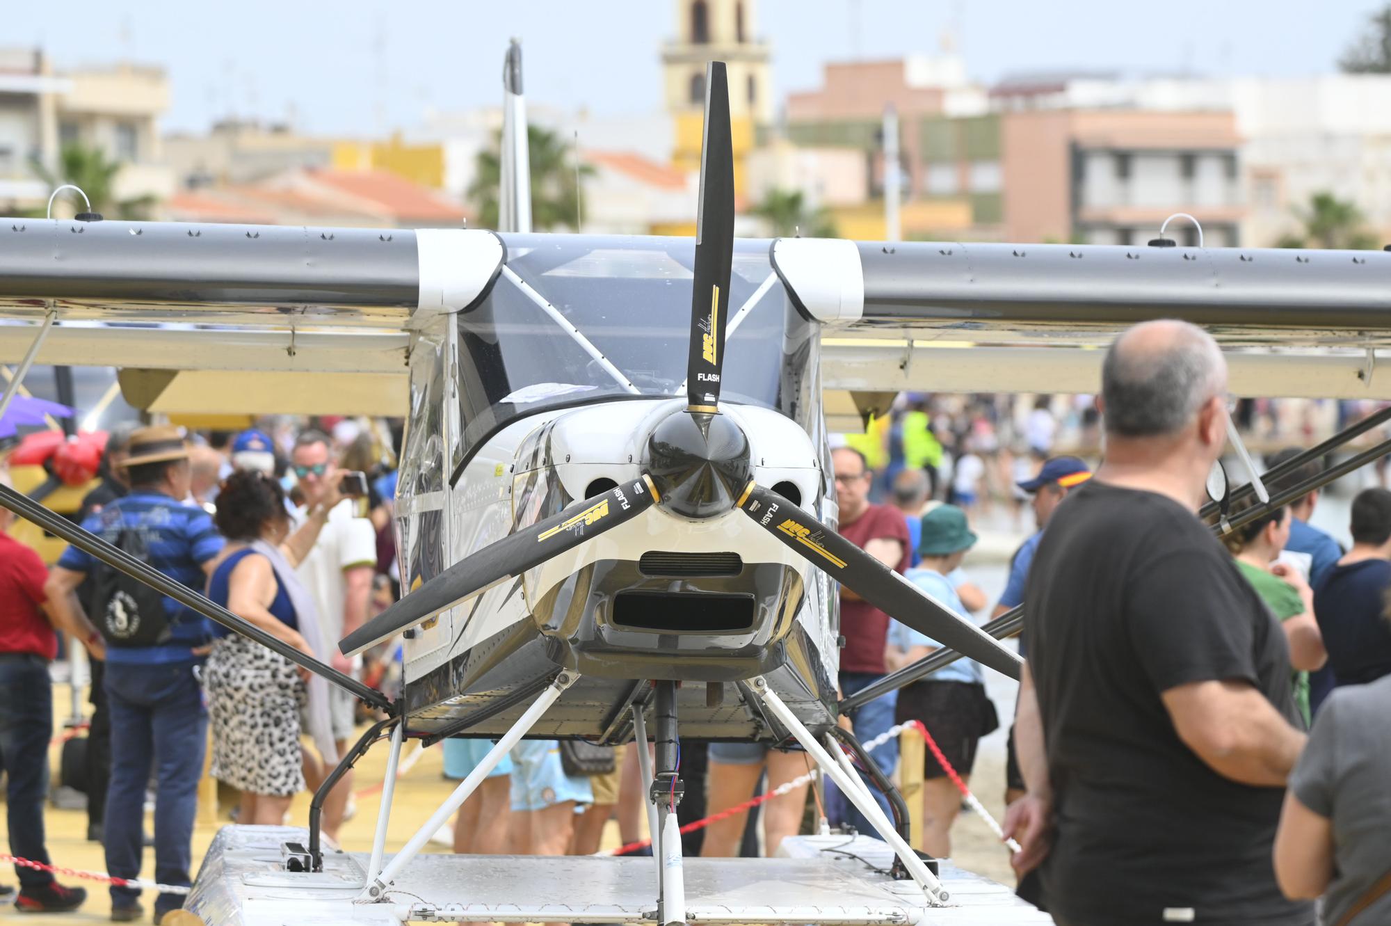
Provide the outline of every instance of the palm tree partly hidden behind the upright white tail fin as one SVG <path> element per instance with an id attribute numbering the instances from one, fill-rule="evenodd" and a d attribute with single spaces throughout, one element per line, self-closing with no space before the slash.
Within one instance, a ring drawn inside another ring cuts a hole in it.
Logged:
<path id="1" fill-rule="evenodd" d="M 580 164 L 576 170 L 566 146 L 555 132 L 538 125 L 526 131 L 527 157 L 531 164 L 531 227 L 547 231 L 558 225 L 579 229 L 581 182 L 594 175 L 594 168 Z M 479 152 L 469 199 L 484 228 L 498 227 L 498 195 L 502 184 L 502 163 L 498 150 L 502 135 L 494 136 L 491 149 Z"/>

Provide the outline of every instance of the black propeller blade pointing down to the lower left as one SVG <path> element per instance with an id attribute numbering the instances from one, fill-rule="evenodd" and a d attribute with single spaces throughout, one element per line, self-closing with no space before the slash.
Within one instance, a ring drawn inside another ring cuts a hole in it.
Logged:
<path id="1" fill-rule="evenodd" d="M 658 501 L 652 481 L 640 478 L 570 505 L 530 527 L 515 531 L 444 570 L 366 624 L 344 637 L 338 648 L 355 656 L 394 634 L 430 620 L 460 601 L 520 576 L 580 544 L 629 521 Z"/>

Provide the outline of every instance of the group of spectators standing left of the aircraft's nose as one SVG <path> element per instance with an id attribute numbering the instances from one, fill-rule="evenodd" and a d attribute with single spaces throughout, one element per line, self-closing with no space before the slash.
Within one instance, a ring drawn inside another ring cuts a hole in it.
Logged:
<path id="1" fill-rule="evenodd" d="M 387 501 L 389 437 L 346 421 L 331 435 L 307 428 L 278 438 L 248 430 L 189 439 L 170 425 L 120 424 L 108 434 L 102 484 L 78 520 L 289 647 L 360 674 L 360 662 L 344 660 L 335 644 L 367 619 L 374 588 L 399 580 Z M 348 466 L 364 470 L 356 491 L 345 488 L 345 477 L 355 476 Z M 317 787 L 338 763 L 357 724 L 355 699 L 320 677 L 77 546 L 46 569 L 32 549 L 4 537 L 0 571 L 0 767 L 8 777 L 10 844 L 21 858 L 50 862 L 42 816 L 53 726 L 47 663 L 60 637 L 89 652 L 88 838 L 103 844 L 115 877 L 138 877 L 153 844 L 156 879 L 191 883 L 209 741 L 213 776 L 239 795 L 235 819 L 278 825 L 292 797 Z M 378 596 L 376 606 L 391 599 Z M 302 734 L 312 749 L 302 748 Z M 150 790 L 153 837 L 145 834 Z M 345 776 L 324 804 L 330 838 L 351 793 Z M 17 866 L 17 873 L 21 911 L 67 911 L 85 900 L 82 888 L 47 872 Z M 113 920 L 143 916 L 139 890 L 110 891 Z M 161 893 L 156 922 L 179 904 L 179 895 Z"/>

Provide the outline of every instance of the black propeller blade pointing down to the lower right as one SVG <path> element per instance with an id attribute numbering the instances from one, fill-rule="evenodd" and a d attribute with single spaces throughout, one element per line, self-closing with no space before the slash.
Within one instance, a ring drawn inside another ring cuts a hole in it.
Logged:
<path id="1" fill-rule="evenodd" d="M 990 634 L 928 595 L 778 492 L 753 482 L 739 507 L 837 583 L 943 647 L 956 649 L 1011 679 L 1022 660 Z"/>

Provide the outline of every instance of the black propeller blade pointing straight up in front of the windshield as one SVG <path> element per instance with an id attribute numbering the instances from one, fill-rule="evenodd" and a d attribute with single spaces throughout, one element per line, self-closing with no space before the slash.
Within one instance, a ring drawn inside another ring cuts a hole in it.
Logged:
<path id="1" fill-rule="evenodd" d="M 705 68 L 705 135 L 700 154 L 700 211 L 691 281 L 691 339 L 686 407 L 719 410 L 719 375 L 729 323 L 729 274 L 734 260 L 734 153 L 729 128 L 729 78 L 723 61 Z"/>

